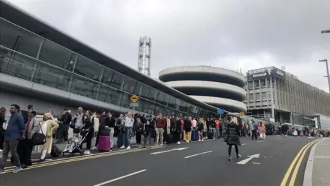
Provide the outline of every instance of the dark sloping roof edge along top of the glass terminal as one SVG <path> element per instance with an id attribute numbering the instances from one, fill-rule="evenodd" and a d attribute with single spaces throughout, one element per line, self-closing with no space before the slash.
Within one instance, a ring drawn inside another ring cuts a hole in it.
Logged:
<path id="1" fill-rule="evenodd" d="M 16 25 L 19 25 L 26 30 L 30 30 L 35 34 L 39 34 L 45 39 L 53 41 L 54 43 L 58 43 L 58 45 L 62 45 L 69 50 L 72 50 L 93 61 L 96 61 L 97 63 L 107 66 L 112 70 L 125 74 L 132 79 L 135 79 L 137 81 L 145 83 L 146 85 L 154 87 L 157 90 L 165 92 L 166 94 L 170 94 L 183 101 L 192 103 L 206 110 L 217 112 L 216 107 L 196 101 L 195 99 L 186 96 L 186 94 L 174 90 L 173 88 L 170 88 L 161 82 L 157 82 L 154 79 L 151 79 L 150 77 L 141 74 L 140 72 L 137 72 L 137 70 L 134 70 L 133 68 L 124 65 L 119 61 L 116 61 L 115 59 L 107 56 L 106 54 L 103 54 L 102 52 L 94 48 L 91 48 L 91 46 L 83 43 L 82 41 L 78 41 L 78 39 L 74 39 L 74 37 L 69 36 L 69 34 L 66 34 L 61 30 L 54 28 L 52 25 L 45 23 L 41 19 L 34 17 L 32 14 L 29 14 L 24 10 L 21 10 L 20 8 L 12 5 L 12 3 L 9 3 L 8 1 L 0 0 L 0 17 Z"/>

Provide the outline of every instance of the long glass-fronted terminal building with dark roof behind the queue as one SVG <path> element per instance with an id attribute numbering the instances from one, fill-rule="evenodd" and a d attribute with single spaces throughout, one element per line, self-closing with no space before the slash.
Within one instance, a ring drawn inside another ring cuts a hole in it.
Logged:
<path id="1" fill-rule="evenodd" d="M 212 116 L 217 108 L 133 70 L 0 0 L 0 106 Z"/>

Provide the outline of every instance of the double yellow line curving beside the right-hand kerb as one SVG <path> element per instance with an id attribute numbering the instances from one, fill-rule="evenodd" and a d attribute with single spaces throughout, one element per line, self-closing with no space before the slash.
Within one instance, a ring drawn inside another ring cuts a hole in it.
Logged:
<path id="1" fill-rule="evenodd" d="M 307 143 L 307 145 L 305 145 L 302 149 L 300 149 L 300 151 L 298 152 L 296 158 L 294 158 L 294 161 L 292 161 L 289 169 L 287 169 L 287 173 L 285 174 L 285 176 L 282 180 L 281 186 L 286 186 L 287 185 L 287 181 L 289 180 L 289 177 L 290 177 L 291 173 L 292 173 L 292 176 L 291 176 L 291 180 L 289 182 L 289 186 L 294 186 L 294 183 L 296 181 L 296 177 L 297 177 L 297 174 L 298 174 L 298 170 L 300 168 L 301 163 L 303 162 L 303 158 L 305 157 L 305 154 L 306 154 L 307 150 L 309 149 L 309 147 L 311 147 L 312 145 L 314 145 L 318 141 L 320 141 L 320 139 L 315 140 L 315 141 L 311 141 L 310 143 Z M 297 161 L 298 161 L 298 163 L 296 164 Z M 296 167 L 294 167 L 294 165 L 296 165 Z M 294 172 L 292 172 L 292 169 L 294 169 Z"/>

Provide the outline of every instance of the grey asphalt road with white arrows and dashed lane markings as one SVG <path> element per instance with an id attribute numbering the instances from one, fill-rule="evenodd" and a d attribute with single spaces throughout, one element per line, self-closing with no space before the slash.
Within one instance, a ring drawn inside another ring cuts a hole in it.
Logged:
<path id="1" fill-rule="evenodd" d="M 245 144 L 239 147 L 242 158 L 236 159 L 233 148 L 231 162 L 222 138 L 157 149 L 132 149 L 34 165 L 19 174 L 2 174 L 0 185 L 281 185 L 300 149 L 314 140 L 278 136 L 267 136 L 266 141 L 242 138 Z M 254 154 L 260 154 L 259 158 L 244 165 L 236 164 Z M 84 160 L 86 157 L 89 159 Z M 303 185 L 306 161 L 307 155 L 298 169 L 295 185 Z"/>

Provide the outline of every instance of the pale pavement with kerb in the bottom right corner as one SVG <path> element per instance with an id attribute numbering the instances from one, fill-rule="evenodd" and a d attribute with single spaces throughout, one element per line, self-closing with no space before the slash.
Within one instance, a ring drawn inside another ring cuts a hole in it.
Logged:
<path id="1" fill-rule="evenodd" d="M 311 148 L 304 177 L 304 186 L 326 185 L 330 185 L 330 138 Z"/>

